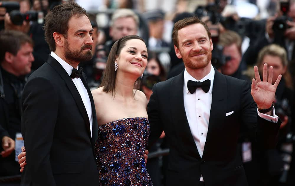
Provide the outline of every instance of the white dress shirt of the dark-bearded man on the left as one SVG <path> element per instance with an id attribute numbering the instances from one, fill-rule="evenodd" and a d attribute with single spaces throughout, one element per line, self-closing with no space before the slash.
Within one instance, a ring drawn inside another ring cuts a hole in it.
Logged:
<path id="1" fill-rule="evenodd" d="M 65 62 L 62 58 L 58 57 L 58 55 L 56 55 L 53 51 L 51 52 L 50 56 L 55 58 L 55 60 L 60 63 L 60 65 L 65 69 L 65 71 L 68 73 L 69 76 L 72 74 L 73 67 L 71 65 L 69 65 L 67 62 Z M 79 68 L 79 66 L 77 68 Z M 81 96 L 81 99 L 83 101 L 83 104 L 86 108 L 86 112 L 87 112 L 87 115 L 89 118 L 89 124 L 90 124 L 90 133 L 91 133 L 91 137 L 92 137 L 93 117 L 92 117 L 91 102 L 90 102 L 90 98 L 89 98 L 87 89 L 85 88 L 85 86 L 80 78 L 76 77 L 76 78 L 72 79 L 72 81 L 75 84 L 75 86 Z"/>

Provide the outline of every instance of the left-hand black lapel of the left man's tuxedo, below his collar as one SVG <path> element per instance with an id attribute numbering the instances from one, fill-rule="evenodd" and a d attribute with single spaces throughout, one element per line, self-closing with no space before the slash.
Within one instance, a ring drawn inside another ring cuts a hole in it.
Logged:
<path id="1" fill-rule="evenodd" d="M 81 98 L 75 84 L 73 83 L 71 77 L 68 75 L 68 73 L 65 71 L 65 69 L 60 65 L 60 63 L 58 63 L 58 61 L 56 61 L 52 56 L 49 56 L 47 63 L 50 66 L 52 66 L 58 72 L 58 74 L 61 76 L 61 78 L 65 81 L 65 83 L 66 83 L 68 89 L 70 90 L 71 94 L 73 95 L 73 98 L 77 104 L 77 107 L 78 107 L 78 109 L 85 121 L 87 133 L 88 133 L 89 137 L 91 138 L 89 118 L 87 115 L 87 111 L 86 111 L 86 108 L 83 104 L 82 98 Z"/>

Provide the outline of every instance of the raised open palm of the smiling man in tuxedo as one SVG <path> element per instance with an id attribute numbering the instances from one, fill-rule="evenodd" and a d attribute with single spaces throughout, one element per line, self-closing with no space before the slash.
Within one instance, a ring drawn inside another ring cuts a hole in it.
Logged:
<path id="1" fill-rule="evenodd" d="M 279 75 L 276 82 L 272 85 L 273 79 L 273 67 L 268 70 L 267 78 L 267 64 L 263 65 L 262 81 L 258 73 L 258 67 L 254 66 L 255 79 L 252 79 L 251 95 L 260 109 L 267 109 L 271 107 L 273 100 L 275 99 L 276 88 L 281 81 L 282 75 Z"/>

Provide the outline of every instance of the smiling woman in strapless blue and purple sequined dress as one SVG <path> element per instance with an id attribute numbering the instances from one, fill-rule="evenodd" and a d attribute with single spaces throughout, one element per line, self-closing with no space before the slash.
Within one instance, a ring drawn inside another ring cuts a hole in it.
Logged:
<path id="1" fill-rule="evenodd" d="M 134 86 L 147 66 L 144 40 L 117 40 L 101 86 L 92 91 L 99 124 L 96 161 L 100 185 L 153 185 L 143 158 L 149 137 L 146 97 Z"/>

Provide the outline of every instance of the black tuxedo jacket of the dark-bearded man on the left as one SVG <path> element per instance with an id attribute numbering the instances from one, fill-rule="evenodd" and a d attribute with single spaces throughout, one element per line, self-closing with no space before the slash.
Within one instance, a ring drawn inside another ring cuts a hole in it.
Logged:
<path id="1" fill-rule="evenodd" d="M 22 97 L 22 135 L 27 165 L 22 185 L 98 185 L 94 144 L 98 125 L 85 74 L 81 76 L 92 107 L 93 125 L 81 96 L 52 56 L 28 79 Z"/>

